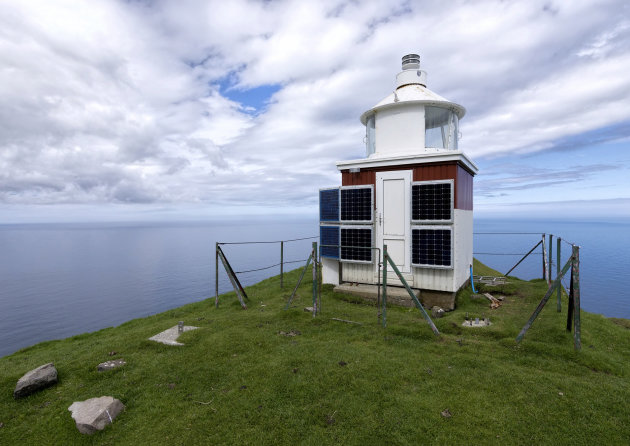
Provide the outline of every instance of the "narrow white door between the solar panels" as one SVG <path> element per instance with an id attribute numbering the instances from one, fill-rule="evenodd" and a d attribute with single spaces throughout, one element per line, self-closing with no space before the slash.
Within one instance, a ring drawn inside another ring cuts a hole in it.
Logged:
<path id="1" fill-rule="evenodd" d="M 401 272 L 411 271 L 411 170 L 376 173 L 376 243 Z M 391 270 L 391 267 L 389 268 Z"/>

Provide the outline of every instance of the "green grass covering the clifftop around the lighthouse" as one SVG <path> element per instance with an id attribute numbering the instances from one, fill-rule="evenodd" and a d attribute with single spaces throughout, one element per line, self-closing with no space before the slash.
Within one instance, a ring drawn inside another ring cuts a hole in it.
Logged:
<path id="1" fill-rule="evenodd" d="M 476 264 L 475 271 L 482 272 Z M 470 288 L 435 320 L 417 309 L 376 308 L 322 290 L 316 318 L 311 282 L 282 308 L 299 271 L 119 327 L 44 342 L 0 359 L 0 444 L 626 444 L 630 438 L 630 325 L 582 313 L 581 352 L 565 331 L 566 301 L 550 301 L 524 341 L 516 335 L 546 291 L 542 280 L 501 289 L 489 308 Z M 490 316 L 484 329 L 464 315 Z M 331 318 L 348 319 L 347 324 Z M 183 347 L 147 338 L 183 320 Z M 284 336 L 281 331 L 300 332 Z M 116 351 L 115 356 L 108 353 Z M 110 372 L 98 363 L 124 358 Z M 59 383 L 15 401 L 16 381 L 54 362 Z M 81 435 L 73 401 L 111 395 L 126 410 L 112 426 Z M 448 409 L 451 417 L 442 416 Z"/>

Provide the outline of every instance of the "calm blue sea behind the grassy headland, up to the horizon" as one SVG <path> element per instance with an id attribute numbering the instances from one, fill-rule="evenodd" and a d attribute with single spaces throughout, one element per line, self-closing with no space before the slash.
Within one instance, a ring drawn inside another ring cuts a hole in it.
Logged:
<path id="1" fill-rule="evenodd" d="M 502 273 L 543 233 L 554 234 L 553 262 L 557 237 L 562 264 L 579 245 L 582 309 L 630 318 L 630 221 L 476 219 L 474 231 L 475 257 Z M 247 286 L 279 274 L 272 242 L 286 240 L 288 271 L 318 233 L 314 219 L 0 225 L 0 356 L 213 297 L 216 242 Z M 541 277 L 540 247 L 510 275 Z M 231 290 L 222 267 L 218 282 Z"/>

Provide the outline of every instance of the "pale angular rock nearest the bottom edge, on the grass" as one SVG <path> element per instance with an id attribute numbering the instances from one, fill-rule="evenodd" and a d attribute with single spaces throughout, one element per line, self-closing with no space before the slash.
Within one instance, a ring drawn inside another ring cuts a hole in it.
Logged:
<path id="1" fill-rule="evenodd" d="M 111 396 L 90 398 L 85 401 L 75 401 L 68 407 L 77 429 L 82 434 L 91 435 L 97 430 L 105 429 L 125 408 L 120 400 Z"/>

